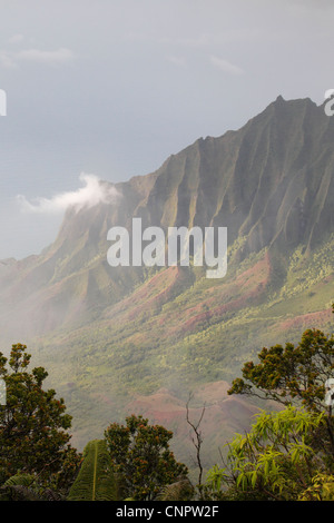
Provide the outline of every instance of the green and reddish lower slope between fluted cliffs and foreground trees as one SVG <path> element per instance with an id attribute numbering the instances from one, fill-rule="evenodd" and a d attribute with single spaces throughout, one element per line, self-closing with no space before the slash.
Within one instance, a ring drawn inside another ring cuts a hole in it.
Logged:
<path id="1" fill-rule="evenodd" d="M 333 247 L 334 236 L 307 256 L 303 247 L 288 258 L 264 249 L 216 280 L 191 267 L 148 273 L 89 325 L 40 338 L 36 357 L 73 415 L 75 442 L 84 446 L 136 412 L 175 431 L 187 454 L 185 405 L 195 392 L 195 416 L 206 403 L 206 458 L 214 460 L 213 445 L 217 453 L 255 413 L 226 395 L 243 363 L 263 346 L 297 343 L 306 328 L 333 332 Z"/>

